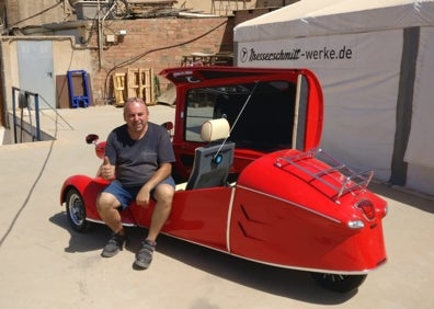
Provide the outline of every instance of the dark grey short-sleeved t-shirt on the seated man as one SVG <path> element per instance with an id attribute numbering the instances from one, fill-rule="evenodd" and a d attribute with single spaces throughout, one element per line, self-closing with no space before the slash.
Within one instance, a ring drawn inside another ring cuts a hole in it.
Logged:
<path id="1" fill-rule="evenodd" d="M 175 161 L 168 130 L 149 122 L 146 135 L 139 140 L 129 137 L 126 124 L 111 131 L 105 156 L 116 165 L 116 179 L 125 186 L 141 186 L 161 163 Z"/>

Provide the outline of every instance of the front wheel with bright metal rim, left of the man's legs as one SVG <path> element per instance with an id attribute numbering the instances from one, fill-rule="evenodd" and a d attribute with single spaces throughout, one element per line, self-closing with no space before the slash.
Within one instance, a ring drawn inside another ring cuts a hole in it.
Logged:
<path id="1" fill-rule="evenodd" d="M 76 231 L 84 232 L 90 228 L 90 222 L 85 220 L 85 207 L 83 198 L 76 188 L 69 188 L 66 195 L 66 209 L 68 221 Z"/>

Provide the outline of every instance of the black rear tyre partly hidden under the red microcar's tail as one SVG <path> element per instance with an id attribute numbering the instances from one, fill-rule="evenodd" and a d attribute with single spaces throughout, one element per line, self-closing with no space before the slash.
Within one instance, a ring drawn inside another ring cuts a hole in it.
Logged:
<path id="1" fill-rule="evenodd" d="M 367 277 L 367 275 L 340 275 L 324 273 L 311 273 L 311 275 L 321 286 L 340 293 L 347 293 L 356 289 Z"/>

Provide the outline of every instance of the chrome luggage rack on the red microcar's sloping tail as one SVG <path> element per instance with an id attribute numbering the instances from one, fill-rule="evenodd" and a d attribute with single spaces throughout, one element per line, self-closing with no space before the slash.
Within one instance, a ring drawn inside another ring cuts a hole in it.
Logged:
<path id="1" fill-rule="evenodd" d="M 322 163 L 309 160 L 313 158 Z M 301 172 L 299 176 L 308 175 L 311 178 L 309 183 L 317 185 L 317 188 L 320 191 L 324 190 L 319 187 L 318 183 L 326 185 L 333 192 L 331 197 L 334 202 L 349 192 L 366 190 L 374 175 L 374 171 L 372 170 L 355 172 L 344 163 L 329 156 L 322 149 L 317 148 L 296 156 L 282 156 L 277 158 L 275 165 L 292 173 L 299 171 Z M 290 171 L 288 169 L 289 167 L 293 167 L 295 171 Z M 317 184 L 316 181 L 318 181 Z"/>

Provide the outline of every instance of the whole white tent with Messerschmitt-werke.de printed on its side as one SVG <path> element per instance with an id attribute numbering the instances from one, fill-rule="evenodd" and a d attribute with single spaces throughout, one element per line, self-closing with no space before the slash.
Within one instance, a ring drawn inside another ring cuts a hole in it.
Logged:
<path id="1" fill-rule="evenodd" d="M 434 0 L 301 0 L 236 26 L 235 49 L 240 67 L 313 70 L 322 148 L 434 195 Z"/>

